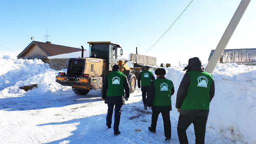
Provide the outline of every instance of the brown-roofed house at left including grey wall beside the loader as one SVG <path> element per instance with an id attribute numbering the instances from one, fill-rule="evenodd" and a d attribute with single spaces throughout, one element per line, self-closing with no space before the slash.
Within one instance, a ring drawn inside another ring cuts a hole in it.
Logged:
<path id="1" fill-rule="evenodd" d="M 49 41 L 40 42 L 32 41 L 29 43 L 25 49 L 23 49 L 17 56 L 17 58 L 23 59 L 41 59 L 43 62 L 48 63 L 51 68 L 54 69 L 63 69 L 67 67 L 69 57 L 61 58 L 48 58 L 53 55 L 59 55 L 64 53 L 71 53 L 81 51 L 81 48 L 63 46 L 52 44 Z"/>

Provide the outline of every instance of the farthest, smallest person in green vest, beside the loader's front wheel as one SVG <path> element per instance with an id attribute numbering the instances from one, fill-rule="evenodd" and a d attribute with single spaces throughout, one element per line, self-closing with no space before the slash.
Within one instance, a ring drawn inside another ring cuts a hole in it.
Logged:
<path id="1" fill-rule="evenodd" d="M 142 91 L 142 101 L 144 104 L 144 109 L 146 110 L 146 95 L 148 95 L 149 86 L 151 81 L 154 80 L 154 75 L 149 70 L 149 66 L 145 66 L 144 70 L 141 71 L 138 75 L 138 88 L 140 88 L 140 81 L 141 81 L 141 91 Z"/>

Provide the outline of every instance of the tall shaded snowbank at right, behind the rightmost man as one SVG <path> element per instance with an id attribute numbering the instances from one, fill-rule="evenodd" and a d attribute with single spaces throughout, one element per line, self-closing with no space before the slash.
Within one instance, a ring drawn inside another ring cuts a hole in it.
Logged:
<path id="1" fill-rule="evenodd" d="M 184 75 L 183 66 L 167 69 L 166 76 L 173 81 L 176 92 Z M 210 103 L 207 130 L 216 130 L 238 143 L 256 143 L 256 66 L 219 63 L 212 75 L 215 96 Z M 177 120 L 178 113 L 173 114 Z"/>

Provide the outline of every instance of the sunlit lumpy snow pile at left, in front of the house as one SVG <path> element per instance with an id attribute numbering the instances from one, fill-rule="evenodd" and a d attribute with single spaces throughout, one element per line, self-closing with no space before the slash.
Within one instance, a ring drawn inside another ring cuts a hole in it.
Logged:
<path id="1" fill-rule="evenodd" d="M 56 70 L 49 68 L 40 59 L 8 59 L 0 58 L 0 97 L 36 95 L 68 88 L 56 84 Z M 20 86 L 35 84 L 38 88 L 31 91 L 19 89 Z"/>

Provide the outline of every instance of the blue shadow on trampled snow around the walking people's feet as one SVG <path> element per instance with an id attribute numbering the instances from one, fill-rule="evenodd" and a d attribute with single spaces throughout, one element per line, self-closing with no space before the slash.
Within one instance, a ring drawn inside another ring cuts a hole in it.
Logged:
<path id="1" fill-rule="evenodd" d="M 138 105 L 141 105 L 138 106 Z M 43 123 L 37 126 L 59 125 L 78 123 L 76 129 L 71 131 L 71 135 L 48 142 L 49 144 L 68 142 L 68 143 L 162 143 L 164 142 L 164 132 L 162 116 L 159 114 L 156 133 L 153 134 L 147 130 L 151 123 L 151 109 L 142 109 L 142 102 L 134 102 L 122 106 L 119 130 L 121 134 L 113 135 L 114 113 L 112 115 L 112 127 L 105 126 L 106 114 L 92 115 L 83 118 L 71 119 L 62 122 Z M 105 109 L 107 111 L 107 109 Z M 175 125 L 171 125 L 172 132 L 175 131 Z M 135 131 L 141 129 L 141 131 Z M 59 131 L 61 133 L 61 131 Z M 172 134 L 177 137 L 176 132 Z M 178 143 L 177 138 L 173 138 L 172 143 Z"/>

